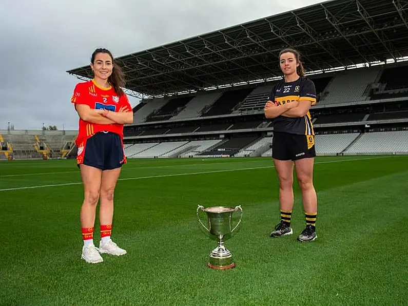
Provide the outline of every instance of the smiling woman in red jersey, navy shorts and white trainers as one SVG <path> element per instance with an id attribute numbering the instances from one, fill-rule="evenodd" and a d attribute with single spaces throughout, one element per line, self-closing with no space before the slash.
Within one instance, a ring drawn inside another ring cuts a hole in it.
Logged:
<path id="1" fill-rule="evenodd" d="M 71 102 L 79 114 L 77 164 L 84 184 L 81 227 L 86 262 L 102 262 L 101 253 L 124 255 L 126 251 L 111 240 L 113 193 L 126 163 L 123 125 L 133 122 L 132 107 L 123 92 L 124 75 L 107 49 L 96 49 L 91 56 L 94 78 L 75 86 Z M 100 200 L 99 248 L 93 244 L 96 205 Z"/>

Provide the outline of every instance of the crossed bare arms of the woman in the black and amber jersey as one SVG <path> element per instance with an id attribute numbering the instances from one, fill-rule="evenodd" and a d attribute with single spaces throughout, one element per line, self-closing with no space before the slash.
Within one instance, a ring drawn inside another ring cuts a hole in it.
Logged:
<path id="1" fill-rule="evenodd" d="M 266 118 L 276 118 L 278 116 L 298 118 L 303 117 L 309 111 L 312 102 L 307 100 L 294 101 L 276 106 L 272 101 L 268 101 L 264 108 Z"/>

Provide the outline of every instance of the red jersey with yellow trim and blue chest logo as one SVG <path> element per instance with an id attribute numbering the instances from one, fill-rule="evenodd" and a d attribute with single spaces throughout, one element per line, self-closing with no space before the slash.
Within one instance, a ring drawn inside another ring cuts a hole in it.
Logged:
<path id="1" fill-rule="evenodd" d="M 122 106 L 127 106 L 128 111 L 132 110 L 125 93 L 118 97 L 112 87 L 101 87 L 94 80 L 76 84 L 71 102 L 75 105 L 88 105 L 91 109 L 108 109 L 117 112 Z M 76 145 L 79 146 L 84 140 L 101 131 L 116 133 L 123 139 L 123 124 L 96 124 L 86 122 L 80 118 Z"/>

